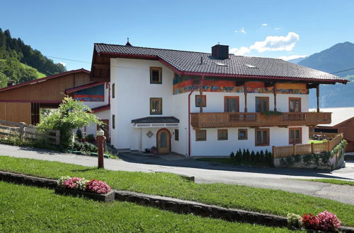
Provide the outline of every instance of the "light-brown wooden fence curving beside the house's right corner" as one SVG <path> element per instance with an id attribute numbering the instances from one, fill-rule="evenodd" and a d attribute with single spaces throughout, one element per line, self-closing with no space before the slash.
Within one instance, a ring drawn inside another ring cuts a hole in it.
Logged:
<path id="1" fill-rule="evenodd" d="M 343 140 L 343 133 L 335 136 L 331 141 L 311 144 L 296 144 L 273 146 L 273 158 L 289 157 L 292 155 L 308 155 L 330 152 Z"/>

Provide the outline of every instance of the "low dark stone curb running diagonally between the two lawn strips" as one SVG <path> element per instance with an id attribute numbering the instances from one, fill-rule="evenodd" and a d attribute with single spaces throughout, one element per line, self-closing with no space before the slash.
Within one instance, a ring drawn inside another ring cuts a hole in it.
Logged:
<path id="1" fill-rule="evenodd" d="M 16 184 L 26 184 L 30 186 L 39 186 L 50 189 L 57 187 L 57 180 L 40 177 L 28 176 L 13 172 L 0 171 L 0 181 L 7 181 Z M 255 213 L 246 210 L 222 208 L 217 205 L 207 205 L 194 201 L 185 201 L 178 198 L 169 198 L 164 196 L 154 196 L 144 193 L 135 193 L 132 191 L 113 190 L 115 199 L 147 205 L 161 210 L 169 210 L 181 214 L 194 214 L 202 217 L 212 217 L 230 222 L 248 222 L 251 224 L 265 225 L 269 227 L 287 227 L 287 218 L 277 215 L 268 215 Z M 341 227 L 342 232 L 354 233 L 354 227 Z"/>

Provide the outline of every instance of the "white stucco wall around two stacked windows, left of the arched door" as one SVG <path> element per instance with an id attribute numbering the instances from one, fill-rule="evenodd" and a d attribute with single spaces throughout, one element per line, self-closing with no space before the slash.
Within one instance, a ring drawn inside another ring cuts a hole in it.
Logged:
<path id="1" fill-rule="evenodd" d="M 162 84 L 150 83 L 150 66 L 162 67 Z M 173 71 L 159 61 L 110 59 L 110 83 L 115 83 L 115 98 L 110 102 L 116 126 L 110 129 L 112 143 L 115 148 L 138 150 L 139 133 L 132 128 L 132 119 L 173 117 Z M 162 98 L 161 115 L 150 115 L 151 97 Z"/>

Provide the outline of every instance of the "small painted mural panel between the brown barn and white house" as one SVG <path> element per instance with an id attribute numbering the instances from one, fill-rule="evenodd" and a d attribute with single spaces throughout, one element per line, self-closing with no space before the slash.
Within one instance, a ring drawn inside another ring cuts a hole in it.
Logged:
<path id="1" fill-rule="evenodd" d="M 83 102 L 104 102 L 105 89 L 104 85 L 96 85 L 92 88 L 78 90 L 74 92 L 74 99 Z"/>

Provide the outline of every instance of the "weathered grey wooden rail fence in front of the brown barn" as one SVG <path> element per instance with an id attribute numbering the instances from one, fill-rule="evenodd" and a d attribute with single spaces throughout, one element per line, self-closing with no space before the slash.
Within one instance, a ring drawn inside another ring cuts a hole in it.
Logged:
<path id="1" fill-rule="evenodd" d="M 45 130 L 39 132 L 35 126 L 30 126 L 25 123 L 16 123 L 12 121 L 0 120 L 0 136 L 18 136 L 20 139 L 40 140 L 45 139 L 47 143 L 52 145 L 60 144 L 60 131 L 59 130 Z"/>

